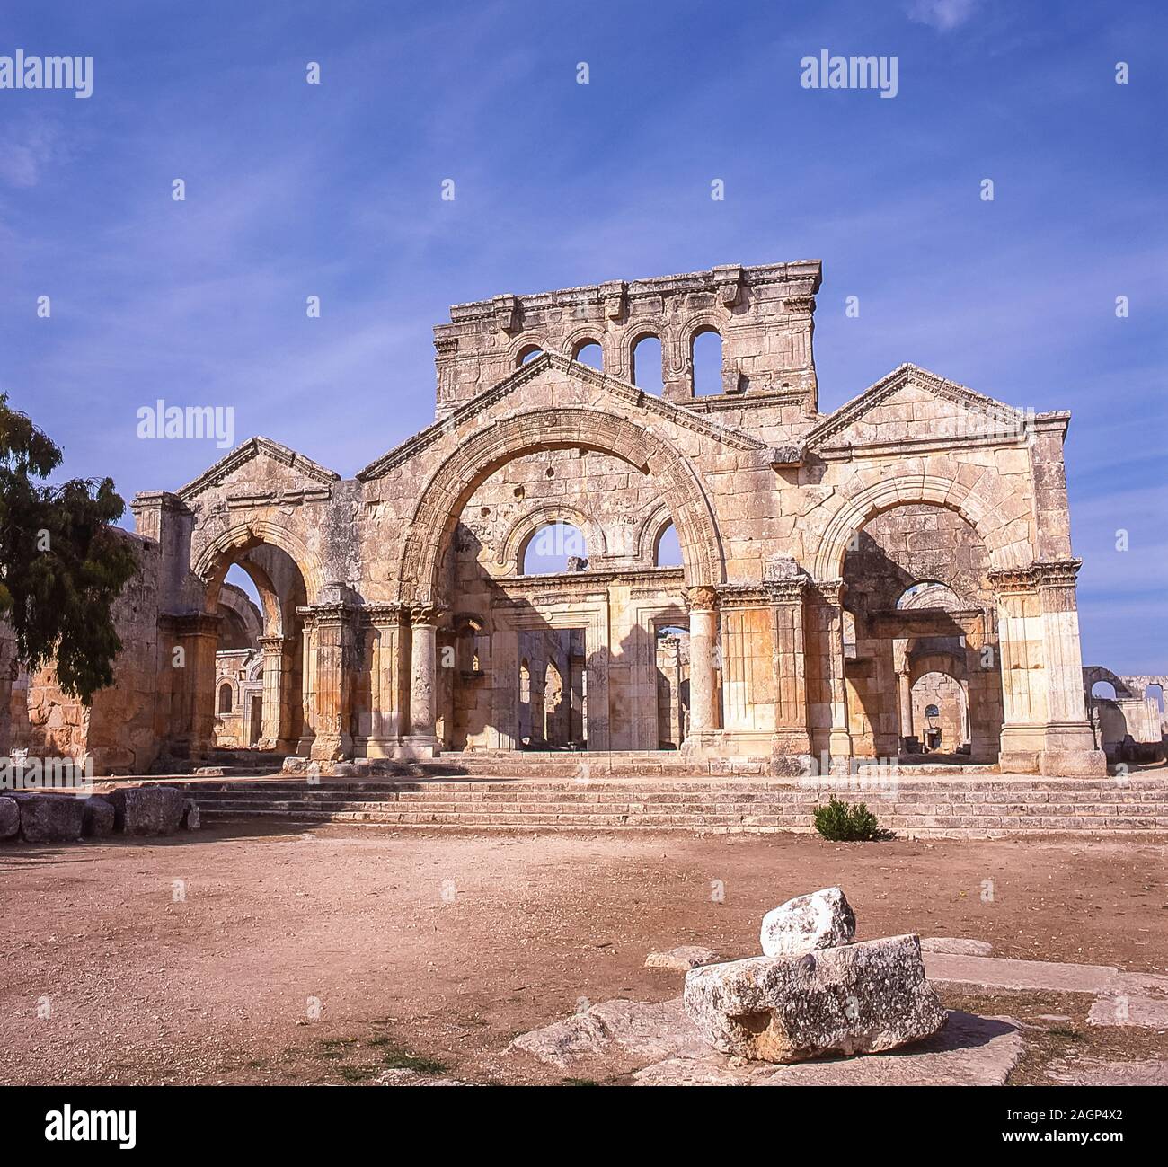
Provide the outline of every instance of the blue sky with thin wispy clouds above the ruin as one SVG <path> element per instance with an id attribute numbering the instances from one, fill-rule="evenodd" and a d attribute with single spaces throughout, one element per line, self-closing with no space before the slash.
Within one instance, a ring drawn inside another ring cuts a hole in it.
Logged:
<path id="1" fill-rule="evenodd" d="M 1085 658 L 1168 671 L 1160 8 L 8 5 L 0 54 L 95 63 L 0 90 L 0 389 L 127 500 L 221 454 L 138 439 L 158 397 L 350 475 L 432 418 L 450 304 L 821 258 L 821 409 L 903 361 L 1071 409 Z M 802 89 L 825 48 L 897 97 Z"/>

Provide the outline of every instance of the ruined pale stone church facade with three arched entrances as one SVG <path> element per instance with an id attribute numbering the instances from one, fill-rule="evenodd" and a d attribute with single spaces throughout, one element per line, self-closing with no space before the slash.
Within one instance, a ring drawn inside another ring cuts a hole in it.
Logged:
<path id="1" fill-rule="evenodd" d="M 256 437 L 139 494 L 117 683 L 84 710 L 0 646 L 6 750 L 98 773 L 228 746 L 324 767 L 672 750 L 772 773 L 931 750 L 1103 774 L 1070 415 L 912 364 L 821 414 L 820 277 L 726 265 L 456 305 L 433 424 L 354 478 Z M 711 342 L 721 383 L 695 393 Z"/>

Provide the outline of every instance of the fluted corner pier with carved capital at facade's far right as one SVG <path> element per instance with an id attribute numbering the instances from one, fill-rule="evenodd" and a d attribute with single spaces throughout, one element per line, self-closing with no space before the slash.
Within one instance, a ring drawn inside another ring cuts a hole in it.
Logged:
<path id="1" fill-rule="evenodd" d="M 1083 697 L 1075 579 L 1079 560 L 990 574 L 997 593 L 1003 772 L 1106 773 Z"/>

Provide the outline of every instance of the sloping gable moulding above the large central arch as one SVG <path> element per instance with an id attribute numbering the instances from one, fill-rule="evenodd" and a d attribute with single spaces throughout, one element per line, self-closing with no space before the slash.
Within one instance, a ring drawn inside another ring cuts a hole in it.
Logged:
<path id="1" fill-rule="evenodd" d="M 656 417 L 683 425 L 731 450 L 750 451 L 760 454 L 765 454 L 770 450 L 765 442 L 759 442 L 758 438 L 753 438 L 749 433 L 743 433 L 741 430 L 731 426 L 711 422 L 702 414 L 686 409 L 683 405 L 663 401 L 654 394 L 638 389 L 637 385 L 609 376 L 599 369 L 593 369 L 590 364 L 582 364 L 559 353 L 542 353 L 534 360 L 528 361 L 527 364 L 520 366 L 514 373 L 489 389 L 472 397 L 447 417 L 434 422 L 433 425 L 427 426 L 412 438 L 408 438 L 399 446 L 395 446 L 388 453 L 371 461 L 364 470 L 357 472 L 357 478 L 361 481 L 381 478 L 395 466 L 420 453 L 444 435 L 459 429 L 474 417 L 481 416 L 487 408 L 507 397 L 522 397 L 526 395 L 524 390 L 537 388 L 541 378 L 556 375 L 566 376 L 582 385 L 586 385 L 590 390 L 590 402 L 593 407 L 603 408 L 607 398 L 613 405 L 619 405 L 620 411 L 624 414 L 634 416 L 637 412 L 644 412 L 647 422 Z"/>

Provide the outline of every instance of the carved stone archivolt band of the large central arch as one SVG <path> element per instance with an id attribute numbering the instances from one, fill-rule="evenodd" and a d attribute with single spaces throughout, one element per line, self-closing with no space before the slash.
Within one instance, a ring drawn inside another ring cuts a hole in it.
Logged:
<path id="1" fill-rule="evenodd" d="M 598 409 L 534 410 L 502 418 L 459 445 L 426 484 L 402 547 L 398 588 L 403 603 L 432 604 L 446 539 L 463 507 L 494 471 L 540 450 L 595 450 L 652 474 L 681 543 L 686 583 L 724 581 L 717 523 L 689 463 L 651 430 Z"/>

